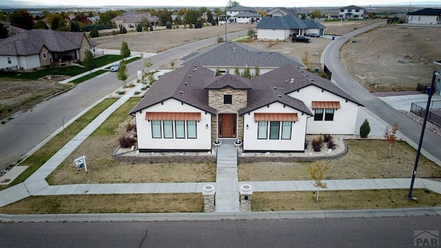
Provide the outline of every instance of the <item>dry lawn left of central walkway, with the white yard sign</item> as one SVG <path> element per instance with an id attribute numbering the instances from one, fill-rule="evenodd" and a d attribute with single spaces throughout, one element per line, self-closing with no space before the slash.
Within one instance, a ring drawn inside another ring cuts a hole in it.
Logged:
<path id="1" fill-rule="evenodd" d="M 213 182 L 216 163 L 150 163 L 132 164 L 115 161 L 114 149 L 119 138 L 127 132 L 133 117 L 127 113 L 139 99 L 129 99 L 119 107 L 95 132 L 77 147 L 68 158 L 48 176 L 52 185 L 76 183 L 182 183 Z M 88 172 L 77 171 L 74 158 L 85 155 Z"/>

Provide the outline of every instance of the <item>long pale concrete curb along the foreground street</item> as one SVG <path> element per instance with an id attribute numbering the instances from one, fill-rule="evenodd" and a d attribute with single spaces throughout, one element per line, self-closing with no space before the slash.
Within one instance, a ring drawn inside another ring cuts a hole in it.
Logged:
<path id="1" fill-rule="evenodd" d="M 255 211 L 154 214 L 0 214 L 3 223 L 110 222 L 110 221 L 191 221 L 191 220 L 283 220 L 307 218 L 378 218 L 439 216 L 441 207 L 400 209 L 353 209 L 309 211 Z"/>

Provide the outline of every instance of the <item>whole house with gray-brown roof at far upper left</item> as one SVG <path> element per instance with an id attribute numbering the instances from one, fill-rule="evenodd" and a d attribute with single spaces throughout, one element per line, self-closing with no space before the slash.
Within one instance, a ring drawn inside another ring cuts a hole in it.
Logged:
<path id="1" fill-rule="evenodd" d="M 0 41 L 0 69 L 28 70 L 59 61 L 79 60 L 96 43 L 83 32 L 25 30 Z"/>

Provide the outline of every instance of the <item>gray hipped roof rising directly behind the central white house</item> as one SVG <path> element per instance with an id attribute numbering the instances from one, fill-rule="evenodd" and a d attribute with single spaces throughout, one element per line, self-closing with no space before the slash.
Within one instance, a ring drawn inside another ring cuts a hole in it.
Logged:
<path id="1" fill-rule="evenodd" d="M 281 17 L 278 17 L 281 18 Z M 187 63 L 196 63 L 203 66 L 221 66 L 221 67 L 238 67 L 245 68 L 278 68 L 281 65 L 294 64 L 296 66 L 304 66 L 298 59 L 285 56 L 278 52 L 263 52 L 247 45 L 235 42 L 224 42 L 217 45 L 211 50 L 198 54 L 192 59 L 185 61 Z"/>

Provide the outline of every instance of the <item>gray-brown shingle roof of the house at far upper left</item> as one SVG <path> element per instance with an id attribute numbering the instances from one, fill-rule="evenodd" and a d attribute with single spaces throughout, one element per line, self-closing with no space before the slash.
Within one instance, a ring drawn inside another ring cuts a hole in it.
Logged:
<path id="1" fill-rule="evenodd" d="M 81 48 L 83 32 L 58 32 L 54 30 L 27 30 L 0 41 L 1 55 L 39 54 L 43 45 L 50 52 L 65 52 Z"/>

